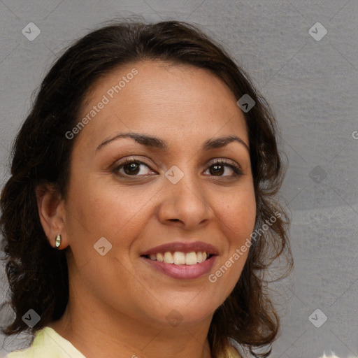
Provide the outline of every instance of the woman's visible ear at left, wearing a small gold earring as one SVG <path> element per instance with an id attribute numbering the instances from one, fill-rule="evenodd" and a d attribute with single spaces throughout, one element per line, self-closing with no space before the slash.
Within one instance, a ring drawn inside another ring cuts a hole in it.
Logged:
<path id="1" fill-rule="evenodd" d="M 50 245 L 52 248 L 56 248 L 55 238 L 61 234 L 62 243 L 57 250 L 66 248 L 69 242 L 66 236 L 64 199 L 53 185 L 41 184 L 36 187 L 36 200 L 38 215 Z"/>

